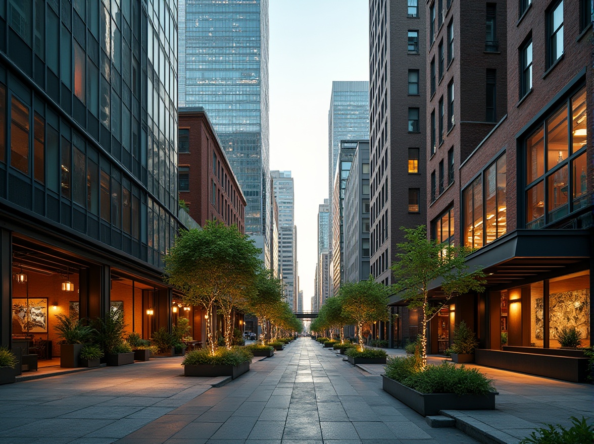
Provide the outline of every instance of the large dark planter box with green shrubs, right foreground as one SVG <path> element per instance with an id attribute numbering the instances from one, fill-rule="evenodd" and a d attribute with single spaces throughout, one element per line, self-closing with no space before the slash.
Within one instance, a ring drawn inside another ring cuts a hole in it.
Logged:
<path id="1" fill-rule="evenodd" d="M 423 416 L 440 410 L 493 410 L 492 380 L 478 369 L 467 369 L 444 361 L 440 366 L 422 365 L 415 354 L 390 359 L 381 375 L 383 389 Z"/>

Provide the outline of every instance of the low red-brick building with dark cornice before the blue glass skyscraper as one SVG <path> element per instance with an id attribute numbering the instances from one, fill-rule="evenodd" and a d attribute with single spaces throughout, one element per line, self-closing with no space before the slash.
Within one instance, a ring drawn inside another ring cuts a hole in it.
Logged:
<path id="1" fill-rule="evenodd" d="M 203 107 L 179 108 L 179 199 L 201 226 L 207 220 L 245 232 L 245 197 Z"/>

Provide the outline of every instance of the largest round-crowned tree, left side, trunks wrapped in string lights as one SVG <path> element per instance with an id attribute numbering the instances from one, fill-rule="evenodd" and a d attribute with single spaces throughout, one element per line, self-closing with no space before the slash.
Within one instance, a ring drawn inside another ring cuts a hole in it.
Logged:
<path id="1" fill-rule="evenodd" d="M 214 353 L 211 316 L 220 306 L 225 319 L 225 345 L 231 347 L 233 307 L 245 307 L 255 290 L 260 249 L 235 225 L 207 221 L 203 230 L 182 231 L 165 257 L 166 280 L 184 292 L 187 305 L 206 309 L 207 344 Z"/>

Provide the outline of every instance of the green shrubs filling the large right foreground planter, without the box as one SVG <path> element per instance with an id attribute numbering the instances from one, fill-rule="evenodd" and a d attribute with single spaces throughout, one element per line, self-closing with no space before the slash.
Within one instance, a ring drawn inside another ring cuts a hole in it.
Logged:
<path id="1" fill-rule="evenodd" d="M 421 357 L 418 355 L 396 357 L 388 360 L 386 376 L 425 394 L 486 395 L 495 391 L 492 379 L 486 378 L 478 369 L 468 369 L 463 364 L 456 366 L 444 362 L 439 366 L 425 366 L 424 370 L 421 367 Z"/>

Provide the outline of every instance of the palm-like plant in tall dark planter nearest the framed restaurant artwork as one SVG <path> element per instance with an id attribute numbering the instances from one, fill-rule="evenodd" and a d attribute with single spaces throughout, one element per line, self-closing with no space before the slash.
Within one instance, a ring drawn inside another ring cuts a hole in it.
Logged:
<path id="1" fill-rule="evenodd" d="M 84 324 L 84 319 L 76 316 L 56 315 L 53 329 L 58 334 L 60 344 L 60 367 L 74 368 L 80 364 L 79 357 L 83 344 L 90 342 L 94 329 Z"/>

